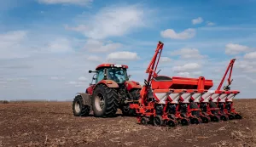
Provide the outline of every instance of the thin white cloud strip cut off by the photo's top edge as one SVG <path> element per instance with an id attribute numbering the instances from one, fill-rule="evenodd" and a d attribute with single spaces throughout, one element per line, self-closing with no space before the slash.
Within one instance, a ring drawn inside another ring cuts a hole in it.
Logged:
<path id="1" fill-rule="evenodd" d="M 90 5 L 93 0 L 38 0 L 39 3 L 46 4 L 76 4 L 76 5 Z"/>

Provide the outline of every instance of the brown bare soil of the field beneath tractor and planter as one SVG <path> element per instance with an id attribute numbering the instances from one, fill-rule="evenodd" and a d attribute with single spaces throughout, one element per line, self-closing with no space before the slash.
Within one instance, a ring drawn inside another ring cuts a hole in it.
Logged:
<path id="1" fill-rule="evenodd" d="M 0 146 L 256 146 L 256 99 L 236 99 L 242 120 L 188 127 L 137 124 L 135 117 L 76 117 L 71 102 L 0 104 Z M 120 113 L 120 112 L 119 112 Z"/>

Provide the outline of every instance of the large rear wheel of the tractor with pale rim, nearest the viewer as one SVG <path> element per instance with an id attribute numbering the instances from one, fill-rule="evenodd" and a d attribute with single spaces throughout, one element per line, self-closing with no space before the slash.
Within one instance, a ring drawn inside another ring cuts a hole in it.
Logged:
<path id="1" fill-rule="evenodd" d="M 96 98 L 99 96 L 99 98 Z M 102 100 L 104 105 L 100 107 L 99 101 Z M 92 95 L 92 109 L 96 117 L 113 117 L 119 108 L 119 96 L 117 90 L 108 88 L 106 85 L 97 85 Z"/>

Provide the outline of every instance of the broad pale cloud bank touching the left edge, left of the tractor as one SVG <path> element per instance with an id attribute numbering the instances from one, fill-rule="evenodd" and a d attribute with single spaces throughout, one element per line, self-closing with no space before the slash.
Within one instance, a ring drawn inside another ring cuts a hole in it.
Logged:
<path id="1" fill-rule="evenodd" d="M 72 53 L 67 37 L 33 34 L 32 31 L 7 31 L 0 34 L 0 59 L 29 58 L 38 54 Z"/>

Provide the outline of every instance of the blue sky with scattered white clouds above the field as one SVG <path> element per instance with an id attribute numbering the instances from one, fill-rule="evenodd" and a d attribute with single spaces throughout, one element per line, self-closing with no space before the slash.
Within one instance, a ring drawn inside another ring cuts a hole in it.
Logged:
<path id="1" fill-rule="evenodd" d="M 96 65 L 129 66 L 143 83 L 158 41 L 160 75 L 218 87 L 236 58 L 231 89 L 256 88 L 256 1 L 0 0 L 0 99 L 70 100 Z M 226 84 L 226 80 L 224 82 Z"/>

